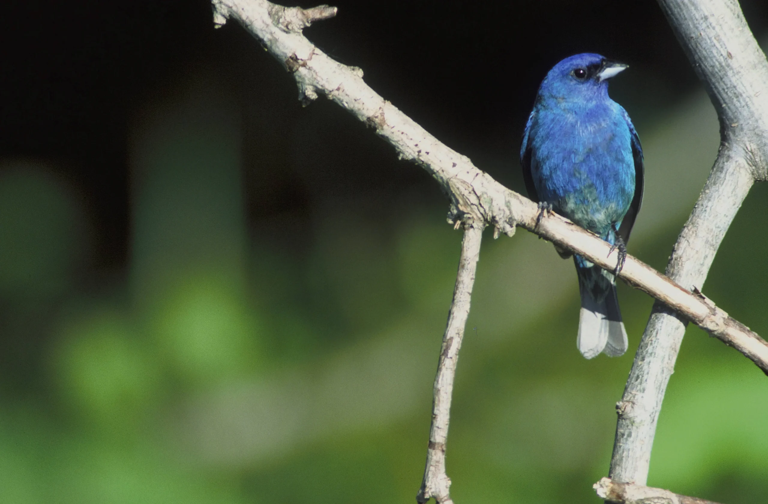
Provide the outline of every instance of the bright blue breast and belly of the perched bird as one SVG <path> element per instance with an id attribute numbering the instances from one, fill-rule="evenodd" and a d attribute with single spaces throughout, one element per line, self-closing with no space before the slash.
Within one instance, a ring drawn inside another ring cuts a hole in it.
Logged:
<path id="1" fill-rule="evenodd" d="M 539 98 L 527 131 L 540 201 L 613 242 L 634 195 L 631 132 L 610 98 L 580 103 Z"/>

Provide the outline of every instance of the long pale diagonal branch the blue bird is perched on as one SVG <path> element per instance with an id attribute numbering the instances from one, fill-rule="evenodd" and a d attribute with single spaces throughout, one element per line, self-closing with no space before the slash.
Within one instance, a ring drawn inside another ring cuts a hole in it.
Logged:
<path id="1" fill-rule="evenodd" d="M 291 23 L 275 20 L 276 7 L 266 0 L 213 0 L 214 22 L 223 25 L 235 18 L 258 38 L 270 54 L 293 73 L 299 98 L 309 103 L 318 93 L 339 104 L 392 144 L 399 158 L 414 161 L 441 184 L 452 201 L 452 221 L 469 218 L 495 227 L 495 234 L 511 236 L 515 226 L 550 240 L 559 247 L 587 257 L 607 270 L 616 265 L 610 245 L 557 214 L 545 216 L 536 226 L 538 207 L 509 191 L 479 170 L 466 156 L 442 144 L 364 81 L 362 70 L 342 65 L 316 48 Z M 286 9 L 286 11 L 289 9 Z M 313 10 L 313 9 L 310 9 Z M 293 27 L 293 28 L 286 28 Z M 768 93 L 766 93 L 768 95 Z M 768 343 L 748 327 L 733 320 L 699 291 L 690 292 L 634 257 L 627 256 L 621 278 L 650 294 L 684 319 L 736 348 L 768 373 Z"/>

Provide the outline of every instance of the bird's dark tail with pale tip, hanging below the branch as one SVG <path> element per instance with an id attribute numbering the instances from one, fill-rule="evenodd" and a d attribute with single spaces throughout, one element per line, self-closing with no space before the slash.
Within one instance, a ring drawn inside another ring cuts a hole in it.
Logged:
<path id="1" fill-rule="evenodd" d="M 627 351 L 627 331 L 621 321 L 613 274 L 574 256 L 581 293 L 576 344 L 587 359 L 604 353 L 617 357 Z M 580 264 L 582 263 L 582 264 Z"/>

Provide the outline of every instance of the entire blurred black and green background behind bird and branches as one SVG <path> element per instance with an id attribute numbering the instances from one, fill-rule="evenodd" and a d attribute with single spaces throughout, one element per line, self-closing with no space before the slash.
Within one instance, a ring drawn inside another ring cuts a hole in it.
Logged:
<path id="1" fill-rule="evenodd" d="M 310 7 L 313 4 L 303 4 Z M 653 2 L 336 2 L 305 31 L 498 181 L 568 55 L 611 83 L 646 153 L 631 254 L 663 270 L 717 118 Z M 744 2 L 757 38 L 768 4 Z M 734 55 L 738 57 L 738 55 Z M 195 2 L 16 2 L 0 18 L 0 502 L 414 502 L 458 263 L 429 175 Z M 704 291 L 768 334 L 768 190 Z M 456 502 L 598 502 L 630 351 L 574 345 L 570 261 L 488 237 L 458 366 Z M 649 484 L 768 493 L 768 383 L 689 330 Z"/>

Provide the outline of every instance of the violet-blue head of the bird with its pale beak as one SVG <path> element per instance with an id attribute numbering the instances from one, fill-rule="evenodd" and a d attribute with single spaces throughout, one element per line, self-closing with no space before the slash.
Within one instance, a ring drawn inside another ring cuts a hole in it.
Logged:
<path id="1" fill-rule="evenodd" d="M 627 65 L 589 52 L 565 58 L 549 71 L 541 82 L 543 98 L 594 101 L 607 98 L 608 79 L 624 71 Z"/>

